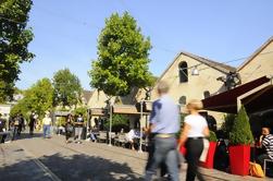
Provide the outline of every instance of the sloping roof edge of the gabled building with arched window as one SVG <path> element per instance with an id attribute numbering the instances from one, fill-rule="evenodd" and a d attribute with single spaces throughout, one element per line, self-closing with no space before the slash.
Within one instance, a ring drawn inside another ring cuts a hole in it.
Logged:
<path id="1" fill-rule="evenodd" d="M 210 60 L 210 59 L 207 59 L 207 58 L 203 58 L 203 57 L 200 57 L 200 56 L 196 56 L 196 55 L 193 55 L 193 53 L 189 53 L 189 52 L 186 52 L 186 51 L 181 51 L 175 58 L 174 58 L 174 61 L 165 69 L 165 71 L 162 73 L 162 75 L 158 79 L 158 81 L 161 80 L 161 77 L 167 72 L 167 70 L 175 63 L 175 61 L 179 58 L 179 56 L 187 56 L 187 57 L 190 57 L 191 59 L 195 59 L 197 61 L 200 62 L 200 64 L 207 64 L 220 72 L 223 72 L 223 73 L 229 73 L 229 72 L 234 72 L 236 71 L 236 68 L 233 68 L 233 67 L 229 67 L 227 64 L 224 64 L 224 63 L 219 63 L 216 61 L 213 61 L 213 60 Z M 199 64 L 197 64 L 199 65 Z"/>

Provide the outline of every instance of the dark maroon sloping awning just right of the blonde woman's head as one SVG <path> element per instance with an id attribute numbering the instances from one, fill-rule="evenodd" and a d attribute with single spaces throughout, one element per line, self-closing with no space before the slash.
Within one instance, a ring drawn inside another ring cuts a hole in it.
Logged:
<path id="1" fill-rule="evenodd" d="M 270 79 L 266 76 L 262 76 L 249 83 L 243 84 L 238 87 L 235 87 L 231 90 L 226 90 L 215 96 L 211 96 L 206 99 L 202 99 L 203 109 L 219 111 L 219 112 L 236 113 L 237 112 L 237 97 L 268 82 L 270 82 Z M 244 104 L 244 99 L 243 99 L 243 104 Z"/>

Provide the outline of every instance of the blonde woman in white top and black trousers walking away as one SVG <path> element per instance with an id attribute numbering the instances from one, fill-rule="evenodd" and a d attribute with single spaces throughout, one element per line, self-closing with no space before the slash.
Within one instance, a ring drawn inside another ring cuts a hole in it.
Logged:
<path id="1" fill-rule="evenodd" d="M 193 99 L 187 106 L 189 116 L 185 117 L 184 128 L 182 130 L 178 148 L 185 145 L 186 160 L 188 164 L 186 181 L 194 181 L 196 176 L 198 180 L 204 180 L 198 170 L 198 162 L 203 150 L 203 138 L 209 136 L 209 128 L 206 119 L 199 114 L 202 109 L 200 100 Z"/>

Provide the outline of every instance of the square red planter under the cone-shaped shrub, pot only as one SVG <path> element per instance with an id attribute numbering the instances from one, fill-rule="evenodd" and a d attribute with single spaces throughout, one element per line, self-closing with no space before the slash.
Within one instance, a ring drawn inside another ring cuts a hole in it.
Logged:
<path id="1" fill-rule="evenodd" d="M 250 160 L 250 146 L 238 145 L 229 146 L 229 164 L 232 174 L 248 176 L 249 160 Z"/>

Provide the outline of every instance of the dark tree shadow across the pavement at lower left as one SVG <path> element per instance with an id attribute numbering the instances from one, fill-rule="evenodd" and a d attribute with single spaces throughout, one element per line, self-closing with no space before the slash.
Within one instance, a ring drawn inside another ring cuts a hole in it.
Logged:
<path id="1" fill-rule="evenodd" d="M 63 157 L 60 154 L 39 158 L 58 178 L 63 181 L 140 181 L 141 176 L 133 172 L 126 164 L 87 156 L 84 154 Z M 36 160 L 22 160 L 14 165 L 0 167 L 0 180 L 51 180 Z"/>

